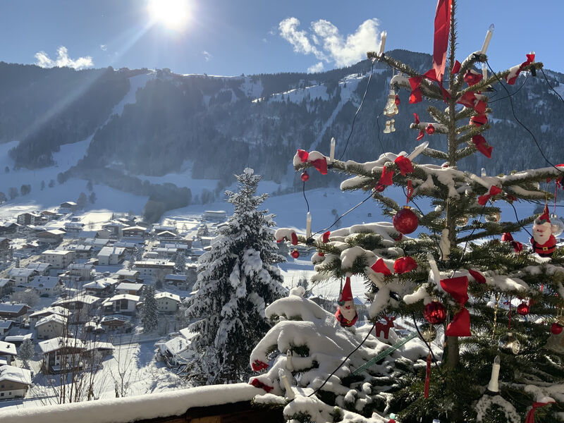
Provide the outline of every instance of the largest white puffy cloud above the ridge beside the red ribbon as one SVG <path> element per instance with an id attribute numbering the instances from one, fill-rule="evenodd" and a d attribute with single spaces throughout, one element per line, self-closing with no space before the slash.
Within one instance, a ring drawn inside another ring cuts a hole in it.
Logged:
<path id="1" fill-rule="evenodd" d="M 312 22 L 307 32 L 298 29 L 300 21 L 297 18 L 286 18 L 278 25 L 278 30 L 296 53 L 313 54 L 318 60 L 333 62 L 336 66 L 350 66 L 366 59 L 367 51 L 377 49 L 380 42 L 378 25 L 375 18 L 365 20 L 353 34 L 343 37 L 329 20 Z M 319 62 L 309 69 L 320 71 L 322 66 Z"/>

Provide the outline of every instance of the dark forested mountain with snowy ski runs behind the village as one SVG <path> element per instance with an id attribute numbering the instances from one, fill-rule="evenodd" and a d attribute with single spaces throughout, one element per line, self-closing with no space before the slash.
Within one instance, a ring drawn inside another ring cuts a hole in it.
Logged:
<path id="1" fill-rule="evenodd" d="M 431 56 L 396 50 L 389 53 L 417 71 L 431 67 Z M 509 64 L 511 65 L 511 63 Z M 208 202 L 231 184 L 233 174 L 250 166 L 278 186 L 278 192 L 300 186 L 291 167 L 296 149 L 329 152 L 337 140 L 336 157 L 345 149 L 351 123 L 367 87 L 371 63 L 324 73 L 274 75 L 178 75 L 164 69 L 113 68 L 74 71 L 44 69 L 0 62 L 0 142 L 18 141 L 10 151 L 16 168 L 54 166 L 61 146 L 87 140 L 87 151 L 76 166 L 61 171 L 59 182 L 85 178 L 113 188 L 148 195 L 164 208 L 187 202 Z M 374 63 L 364 105 L 355 121 L 343 159 L 364 161 L 382 152 L 409 151 L 419 144 L 409 129 L 413 112 L 425 121 L 428 104 L 408 104 L 409 93 L 399 93 L 396 132 L 386 135 L 384 108 L 391 69 Z M 546 71 L 548 81 L 564 94 L 564 75 Z M 564 157 L 558 140 L 564 128 L 558 117 L 564 104 L 541 74 L 525 76 L 509 87 L 515 114 L 532 130 L 547 157 Z M 520 88 L 520 89 L 519 89 Z M 461 164 L 489 174 L 547 166 L 529 134 L 515 122 L 503 88 L 490 95 L 492 129 L 486 139 L 494 147 L 492 159 L 474 155 Z M 441 108 L 441 102 L 435 102 Z M 441 148 L 441 137 L 427 137 Z M 443 144 L 443 145 L 441 145 Z M 517 147 L 517 148 L 516 148 Z M 515 154 L 518 152 L 517 154 Z M 147 178 L 169 173 L 194 179 L 218 180 L 215 190 L 200 197 L 170 183 Z M 313 176 L 312 188 L 336 183 L 337 178 Z M 182 195 L 183 200 L 178 200 Z M 170 201 L 169 197 L 176 197 Z M 168 199 L 168 200 L 167 200 Z"/>

